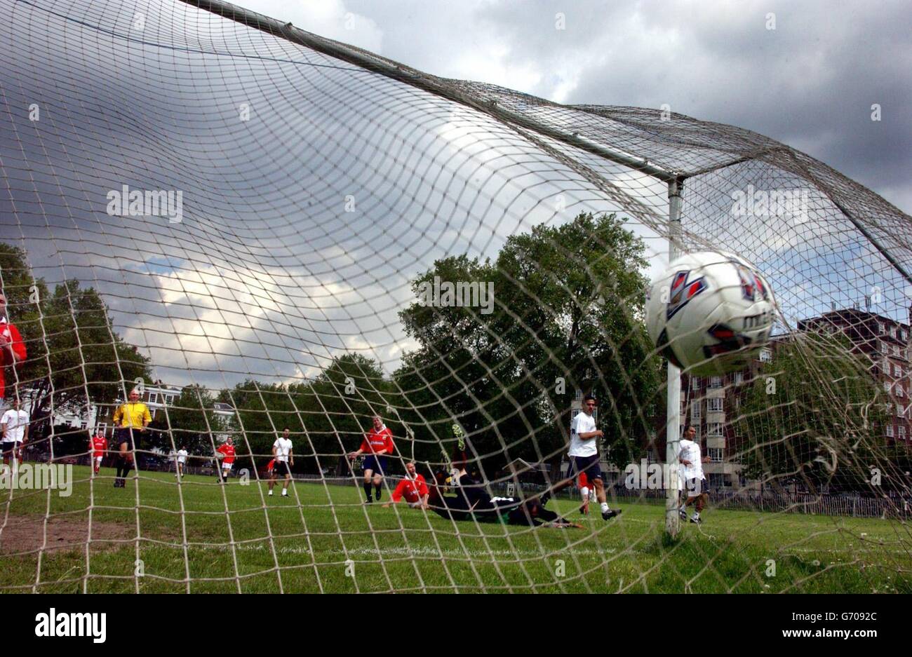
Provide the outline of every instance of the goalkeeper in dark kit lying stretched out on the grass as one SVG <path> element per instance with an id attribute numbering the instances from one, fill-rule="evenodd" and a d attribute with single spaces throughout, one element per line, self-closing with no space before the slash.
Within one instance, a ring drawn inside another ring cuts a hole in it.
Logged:
<path id="1" fill-rule="evenodd" d="M 439 472 L 434 478 L 436 486 L 431 485 L 428 506 L 437 515 L 451 520 L 477 520 L 478 522 L 505 522 L 509 525 L 526 527 L 575 527 L 583 529 L 554 511 L 544 508 L 550 495 L 544 493 L 534 498 L 492 498 L 475 482 L 461 477 L 456 495 L 444 495 L 441 492 L 447 475 Z"/>

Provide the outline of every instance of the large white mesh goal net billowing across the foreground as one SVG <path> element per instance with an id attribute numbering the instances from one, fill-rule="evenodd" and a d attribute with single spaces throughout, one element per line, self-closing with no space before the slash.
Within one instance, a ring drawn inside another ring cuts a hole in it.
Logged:
<path id="1" fill-rule="evenodd" d="M 0 590 L 910 590 L 912 223 L 876 193 L 224 3 L 0 6 Z M 669 244 L 752 262 L 777 313 L 677 408 Z M 586 395 L 608 520 L 567 457 Z M 669 533 L 684 423 L 709 499 Z"/>

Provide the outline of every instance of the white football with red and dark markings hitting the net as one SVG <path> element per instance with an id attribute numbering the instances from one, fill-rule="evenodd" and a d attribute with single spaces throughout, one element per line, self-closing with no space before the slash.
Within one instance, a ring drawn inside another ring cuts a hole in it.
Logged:
<path id="1" fill-rule="evenodd" d="M 742 369 L 770 339 L 772 289 L 740 256 L 694 252 L 652 282 L 646 326 L 659 352 L 693 375 Z"/>

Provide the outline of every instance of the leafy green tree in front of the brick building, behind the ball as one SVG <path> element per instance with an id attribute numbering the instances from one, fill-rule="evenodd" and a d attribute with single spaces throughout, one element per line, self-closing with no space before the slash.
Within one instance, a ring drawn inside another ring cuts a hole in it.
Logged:
<path id="1" fill-rule="evenodd" d="M 735 420 L 744 474 L 812 490 L 869 488 L 889 418 L 869 367 L 841 334 L 799 333 L 776 344 Z"/>

